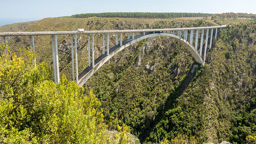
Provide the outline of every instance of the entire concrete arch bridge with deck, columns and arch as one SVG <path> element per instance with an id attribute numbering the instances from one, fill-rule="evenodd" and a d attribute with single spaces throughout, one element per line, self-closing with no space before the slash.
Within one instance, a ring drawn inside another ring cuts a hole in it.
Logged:
<path id="1" fill-rule="evenodd" d="M 52 36 L 52 53 L 53 53 L 53 75 L 54 82 L 59 83 L 59 62 L 58 62 L 58 46 L 57 46 L 57 35 L 71 35 L 71 41 L 75 40 L 75 44 L 71 43 L 72 51 L 72 75 L 73 80 L 76 80 L 76 83 L 80 86 L 83 86 L 84 83 L 111 57 L 117 54 L 119 51 L 124 48 L 136 43 L 140 40 L 154 37 L 154 36 L 169 36 L 173 39 L 176 39 L 182 43 L 188 51 L 191 52 L 195 60 L 204 65 L 206 50 L 208 47 L 211 49 L 212 40 L 217 38 L 218 31 L 221 31 L 225 28 L 223 26 L 213 26 L 213 27 L 197 27 L 197 28 L 172 28 L 172 29 L 144 29 L 144 30 L 113 30 L 113 31 L 40 31 L 40 32 L 2 32 L 0 36 L 3 36 L 4 43 L 7 42 L 7 36 L 29 36 L 30 37 L 30 47 L 31 51 L 34 50 L 34 36 L 35 35 L 51 35 Z M 194 34 L 195 31 L 195 34 Z M 201 32 L 200 47 L 199 45 L 199 31 Z M 211 32 L 209 36 L 209 31 Z M 116 34 L 116 46 L 109 48 L 109 33 Z M 123 33 L 128 34 L 128 38 L 123 41 Z M 215 34 L 213 36 L 213 33 Z M 85 68 L 78 75 L 77 68 L 77 34 L 86 34 L 88 36 L 88 67 Z M 94 58 L 94 35 L 102 34 L 102 54 L 95 59 Z M 135 35 L 137 34 L 137 35 Z M 118 35 L 120 36 L 120 41 L 118 42 Z M 189 35 L 189 37 L 188 37 Z M 195 36 L 194 36 L 195 35 Z M 205 44 L 203 48 L 203 41 L 205 38 Z M 208 40 L 210 38 L 210 40 Z M 189 39 L 189 40 L 188 40 Z M 195 39 L 195 43 L 193 40 Z M 106 49 L 105 49 L 106 48 Z M 202 51 L 204 49 L 204 53 Z M 75 52 L 75 57 L 74 57 Z M 91 62 L 92 57 L 92 62 Z M 32 64 L 35 60 L 32 60 Z"/>

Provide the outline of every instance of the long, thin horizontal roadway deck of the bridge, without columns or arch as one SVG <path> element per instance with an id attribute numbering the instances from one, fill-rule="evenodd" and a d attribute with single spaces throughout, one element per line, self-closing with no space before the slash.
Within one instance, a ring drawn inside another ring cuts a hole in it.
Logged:
<path id="1" fill-rule="evenodd" d="M 0 36 L 29 36 L 29 35 L 63 35 L 63 34 L 91 34 L 91 33 L 125 33 L 125 32 L 153 32 L 153 31 L 177 31 L 224 28 L 223 26 L 196 27 L 196 28 L 172 28 L 172 29 L 141 29 L 141 30 L 108 30 L 108 31 L 38 31 L 38 32 L 0 32 Z"/>

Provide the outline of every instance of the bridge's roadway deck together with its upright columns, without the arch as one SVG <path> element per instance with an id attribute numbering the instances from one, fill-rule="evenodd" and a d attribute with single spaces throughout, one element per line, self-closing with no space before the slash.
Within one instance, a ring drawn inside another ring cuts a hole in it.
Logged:
<path id="1" fill-rule="evenodd" d="M 51 35 L 52 38 L 52 57 L 53 57 L 53 75 L 54 75 L 54 82 L 59 83 L 59 60 L 58 60 L 58 46 L 57 46 L 57 35 L 71 35 L 71 52 L 72 52 L 72 77 L 73 80 L 78 82 L 78 62 L 77 62 L 77 34 L 86 34 L 88 37 L 88 67 L 95 66 L 95 55 L 94 55 L 94 35 L 95 34 L 102 34 L 102 54 L 109 55 L 109 33 L 116 34 L 116 46 L 123 45 L 123 33 L 127 33 L 126 41 L 132 41 L 136 38 L 145 36 L 147 34 L 154 34 L 154 33 L 170 33 L 173 35 L 179 36 L 179 39 L 188 41 L 189 44 L 194 46 L 194 50 L 199 52 L 200 56 L 202 57 L 203 54 L 203 62 L 205 62 L 206 58 L 206 50 L 208 46 L 208 35 L 209 31 L 210 34 L 210 43 L 209 49 L 212 46 L 212 40 L 217 38 L 217 32 L 221 31 L 225 28 L 226 25 L 223 26 L 213 26 L 213 27 L 197 27 L 197 28 L 171 28 L 171 29 L 143 29 L 143 30 L 108 30 L 108 31 L 40 31 L 40 32 L 0 32 L 0 36 L 3 37 L 4 43 L 7 43 L 7 36 L 29 36 L 30 38 L 30 49 L 34 52 L 34 36 L 35 35 Z M 194 33 L 195 31 L 195 33 Z M 205 32 L 206 31 L 206 32 Z M 138 33 L 138 35 L 136 35 Z M 198 49 L 198 39 L 201 33 L 201 40 L 200 40 L 200 47 Z M 215 34 L 215 36 L 213 36 Z M 188 37 L 189 35 L 189 37 Z M 205 40 L 204 40 L 205 35 Z M 120 40 L 118 42 L 118 36 Z M 75 41 L 73 43 L 73 41 Z M 203 50 L 203 42 L 204 50 Z M 194 44 L 194 45 L 193 45 Z M 106 48 L 106 49 L 105 49 Z M 75 52 L 75 53 L 74 53 Z M 75 56 L 74 56 L 75 54 Z M 92 57 L 92 62 L 91 62 Z M 32 59 L 32 64 L 35 64 L 35 59 Z"/>

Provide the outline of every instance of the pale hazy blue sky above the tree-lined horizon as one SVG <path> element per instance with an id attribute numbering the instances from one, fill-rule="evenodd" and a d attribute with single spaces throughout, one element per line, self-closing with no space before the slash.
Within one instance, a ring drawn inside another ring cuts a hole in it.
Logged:
<path id="1" fill-rule="evenodd" d="M 0 26 L 46 17 L 97 12 L 243 12 L 256 0 L 0 0 Z"/>

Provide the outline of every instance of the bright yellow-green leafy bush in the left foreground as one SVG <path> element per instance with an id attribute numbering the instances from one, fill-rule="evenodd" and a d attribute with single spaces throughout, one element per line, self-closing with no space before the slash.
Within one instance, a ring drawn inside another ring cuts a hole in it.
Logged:
<path id="1" fill-rule="evenodd" d="M 54 84 L 47 64 L 31 65 L 28 49 L 17 57 L 6 48 L 0 45 L 0 143 L 139 143 L 126 125 L 107 130 L 92 91 L 84 96 L 64 75 Z"/>

